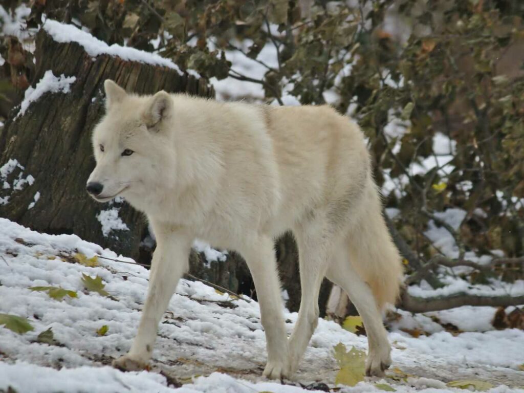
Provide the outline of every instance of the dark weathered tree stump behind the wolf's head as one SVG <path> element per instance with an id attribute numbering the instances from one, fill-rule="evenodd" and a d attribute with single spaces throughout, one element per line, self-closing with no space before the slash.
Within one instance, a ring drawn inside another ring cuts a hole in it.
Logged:
<path id="1" fill-rule="evenodd" d="M 8 197 L 7 203 L 0 202 L 0 216 L 39 232 L 74 233 L 138 259 L 147 231 L 144 217 L 127 204 L 97 203 L 85 192 L 85 182 L 95 165 L 91 132 L 104 113 L 103 82 L 113 79 L 128 91 L 144 94 L 163 89 L 213 96 L 213 89 L 205 80 L 166 67 L 108 55 L 93 58 L 78 43 L 58 43 L 43 29 L 37 34 L 35 57 L 33 86 L 48 70 L 56 77 L 74 75 L 76 80 L 69 93 L 46 93 L 23 116 L 14 118 L 15 108 L 12 118 L 0 128 L 0 167 L 10 159 L 24 167 L 17 167 L 7 177 L 0 174 L 0 198 L 5 202 Z M 29 175 L 34 182 L 18 181 L 21 190 L 15 189 L 16 179 Z M 3 184 L 10 188 L 2 189 Z M 37 192 L 40 198 L 35 202 Z M 97 215 L 113 208 L 118 209 L 129 230 L 114 230 L 104 236 Z"/>

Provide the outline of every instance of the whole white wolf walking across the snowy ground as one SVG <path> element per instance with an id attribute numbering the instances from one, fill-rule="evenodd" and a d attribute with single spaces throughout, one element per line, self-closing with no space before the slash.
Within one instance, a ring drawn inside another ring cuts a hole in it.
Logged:
<path id="1" fill-rule="evenodd" d="M 368 375 L 391 363 L 380 309 L 398 296 L 402 265 L 392 243 L 358 126 L 328 106 L 221 103 L 164 91 L 127 94 L 106 80 L 106 115 L 93 133 L 87 190 L 122 195 L 156 235 L 149 289 L 127 370 L 151 358 L 158 323 L 195 237 L 237 250 L 253 276 L 267 339 L 264 375 L 289 377 L 318 323 L 324 277 L 342 287 L 369 340 Z M 302 299 L 289 340 L 274 238 L 291 230 Z"/>

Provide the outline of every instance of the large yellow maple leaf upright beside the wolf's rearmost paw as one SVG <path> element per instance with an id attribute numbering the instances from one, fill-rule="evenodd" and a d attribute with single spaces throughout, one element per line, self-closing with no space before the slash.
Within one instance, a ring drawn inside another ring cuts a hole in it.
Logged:
<path id="1" fill-rule="evenodd" d="M 355 386 L 363 381 L 366 369 L 366 353 L 357 350 L 355 347 L 347 352 L 346 346 L 342 343 L 336 344 L 333 349 L 335 350 L 336 362 L 340 367 L 335 377 L 335 384 Z"/>

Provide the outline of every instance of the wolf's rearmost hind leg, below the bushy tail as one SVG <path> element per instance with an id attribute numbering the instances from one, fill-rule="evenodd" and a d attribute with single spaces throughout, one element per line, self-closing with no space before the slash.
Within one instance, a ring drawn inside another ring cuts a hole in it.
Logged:
<path id="1" fill-rule="evenodd" d="M 364 322 L 369 345 L 366 375 L 383 376 L 384 370 L 391 364 L 391 348 L 387 332 L 373 291 L 350 263 L 350 258 L 355 258 L 356 255 L 351 252 L 351 249 L 351 245 L 337 248 L 327 277 L 347 293 Z M 364 264 L 367 261 L 354 260 L 352 262 Z"/>

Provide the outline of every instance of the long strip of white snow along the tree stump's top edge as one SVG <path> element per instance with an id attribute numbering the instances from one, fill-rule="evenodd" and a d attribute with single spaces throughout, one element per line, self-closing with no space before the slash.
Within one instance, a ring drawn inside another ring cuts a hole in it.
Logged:
<path id="1" fill-rule="evenodd" d="M 107 45 L 93 37 L 89 32 L 83 31 L 76 26 L 60 23 L 56 20 L 48 19 L 42 26 L 44 30 L 57 42 L 77 42 L 92 57 L 101 54 L 117 56 L 127 61 L 138 61 L 140 63 L 160 65 L 178 71 L 182 74 L 177 64 L 171 60 L 163 58 L 155 53 L 149 53 L 135 48 L 123 47 L 116 44 Z"/>

